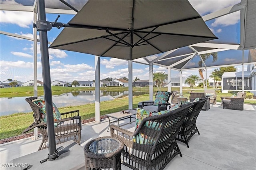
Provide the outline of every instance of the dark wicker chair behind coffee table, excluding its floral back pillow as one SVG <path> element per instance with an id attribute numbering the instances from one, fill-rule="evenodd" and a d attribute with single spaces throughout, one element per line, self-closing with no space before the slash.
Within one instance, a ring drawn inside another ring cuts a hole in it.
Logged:
<path id="1" fill-rule="evenodd" d="M 142 108 L 151 112 L 160 112 L 167 110 L 167 106 L 169 105 L 168 101 L 172 93 L 168 91 L 158 91 L 156 93 L 156 97 L 159 93 L 166 93 L 168 95 L 166 101 L 164 101 L 165 103 L 158 103 L 158 106 L 154 106 L 154 101 L 142 101 L 138 104 L 138 108 Z"/>

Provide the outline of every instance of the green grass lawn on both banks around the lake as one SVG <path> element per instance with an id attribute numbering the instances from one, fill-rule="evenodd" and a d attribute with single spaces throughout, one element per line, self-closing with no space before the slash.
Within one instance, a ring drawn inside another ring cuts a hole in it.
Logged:
<path id="1" fill-rule="evenodd" d="M 52 93 L 53 95 L 56 93 L 66 93 L 70 92 L 70 90 L 79 91 L 82 89 L 89 90 L 89 88 L 84 87 L 58 87 L 52 86 Z M 104 87 L 101 90 L 108 90 L 108 91 L 128 91 L 128 87 Z M 94 90 L 94 88 L 90 88 L 90 90 Z M 27 96 L 28 94 L 32 94 L 33 87 L 12 87 L 12 88 L 4 88 L 0 89 L 1 97 L 8 97 L 8 96 Z M 38 92 L 43 92 L 43 87 L 38 87 Z M 148 87 L 145 88 L 133 88 L 133 91 L 143 91 L 148 92 Z M 157 88 L 154 87 L 154 92 L 157 91 Z M 167 87 L 162 87 L 161 91 L 167 91 Z M 172 91 L 179 91 L 178 87 L 172 88 Z M 190 89 L 183 89 L 183 95 L 189 99 L 190 96 Z M 192 92 L 202 92 L 201 89 L 195 89 Z M 216 93 L 217 94 L 217 102 L 221 102 L 220 97 L 230 97 L 232 93 Z M 43 95 L 43 93 L 42 93 Z M 133 98 L 133 108 L 138 107 L 138 103 L 140 101 L 149 100 L 149 95 L 141 95 Z M 253 104 L 256 105 L 256 100 L 245 99 L 245 104 Z M 90 119 L 95 116 L 95 104 L 87 104 L 81 106 L 74 106 L 74 107 L 62 107 L 58 108 L 61 113 L 79 110 L 81 119 Z M 108 113 L 114 113 L 118 111 L 122 111 L 128 109 L 128 97 L 124 97 L 122 99 L 115 99 L 113 101 L 104 101 L 100 102 L 100 115 L 106 115 Z M 0 117 L 0 139 L 9 138 L 12 136 L 18 136 L 22 134 L 22 131 L 26 129 L 29 125 L 34 122 L 32 112 L 30 113 L 16 113 L 8 116 L 1 116 Z M 32 131 L 32 130 L 31 130 Z"/>

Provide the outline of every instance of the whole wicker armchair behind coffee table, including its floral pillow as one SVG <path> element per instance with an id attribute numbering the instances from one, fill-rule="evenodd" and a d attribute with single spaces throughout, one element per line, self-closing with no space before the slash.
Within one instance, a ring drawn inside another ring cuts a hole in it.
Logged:
<path id="1" fill-rule="evenodd" d="M 164 94 L 165 98 L 159 99 L 158 97 L 162 96 Z M 142 101 L 138 104 L 139 108 L 145 109 L 147 111 L 151 112 L 160 112 L 167 110 L 167 106 L 169 105 L 168 101 L 170 99 L 170 96 L 172 93 L 168 91 L 158 91 L 156 93 L 156 100 L 155 101 Z M 154 103 L 157 103 L 157 105 L 154 105 Z"/>

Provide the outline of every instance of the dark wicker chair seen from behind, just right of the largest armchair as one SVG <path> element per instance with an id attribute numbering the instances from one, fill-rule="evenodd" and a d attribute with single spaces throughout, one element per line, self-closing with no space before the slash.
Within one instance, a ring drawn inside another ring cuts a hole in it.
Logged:
<path id="1" fill-rule="evenodd" d="M 188 114 L 186 115 L 182 126 L 180 127 L 180 131 L 177 135 L 177 140 L 185 143 L 188 146 L 188 141 L 195 134 L 199 133 L 198 128 L 196 127 L 196 119 L 204 106 L 204 103 L 209 99 L 206 97 L 204 99 L 200 99 L 199 101 L 193 102 L 193 106 L 188 110 Z"/>

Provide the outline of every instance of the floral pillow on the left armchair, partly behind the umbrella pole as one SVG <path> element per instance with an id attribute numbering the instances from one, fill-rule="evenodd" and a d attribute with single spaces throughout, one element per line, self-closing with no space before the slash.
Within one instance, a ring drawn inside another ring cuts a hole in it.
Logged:
<path id="1" fill-rule="evenodd" d="M 33 100 L 33 103 L 35 103 L 39 107 L 41 121 L 46 123 L 46 108 L 45 108 L 44 99 L 35 99 Z M 53 109 L 54 121 L 60 120 L 61 119 L 60 111 L 58 110 L 58 108 L 54 103 L 52 103 L 52 109 Z M 58 124 L 59 123 L 54 123 L 54 126 L 56 127 L 58 126 Z"/>

